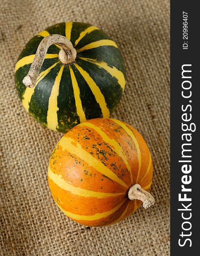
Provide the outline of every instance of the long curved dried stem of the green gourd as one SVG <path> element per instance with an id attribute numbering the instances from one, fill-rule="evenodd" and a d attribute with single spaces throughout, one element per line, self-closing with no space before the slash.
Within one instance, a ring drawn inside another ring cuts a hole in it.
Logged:
<path id="1" fill-rule="evenodd" d="M 51 46 L 52 44 L 57 44 L 61 47 L 61 50 L 59 52 L 59 59 L 63 64 L 70 64 L 75 61 L 76 50 L 72 46 L 70 40 L 68 40 L 63 35 L 58 34 L 46 36 L 39 44 L 29 72 L 27 76 L 25 76 L 23 79 L 23 84 L 25 84 L 26 87 L 35 87 L 35 83 L 44 62 L 46 52 L 49 46 Z"/>

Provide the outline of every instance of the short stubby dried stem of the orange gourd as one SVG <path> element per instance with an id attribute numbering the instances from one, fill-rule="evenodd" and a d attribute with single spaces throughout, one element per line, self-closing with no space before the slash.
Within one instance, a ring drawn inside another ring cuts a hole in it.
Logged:
<path id="1" fill-rule="evenodd" d="M 154 206 L 155 199 L 154 197 L 147 192 L 145 189 L 142 189 L 139 184 L 134 184 L 130 187 L 128 191 L 128 198 L 130 200 L 140 200 L 143 202 L 142 206 L 145 209 L 151 208 Z"/>

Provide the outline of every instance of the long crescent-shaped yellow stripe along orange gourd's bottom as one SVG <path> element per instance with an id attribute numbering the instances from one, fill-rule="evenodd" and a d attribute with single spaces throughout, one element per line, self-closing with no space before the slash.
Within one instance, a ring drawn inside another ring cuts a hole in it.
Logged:
<path id="1" fill-rule="evenodd" d="M 101 218 L 106 218 L 107 216 L 116 212 L 125 203 L 126 200 L 127 199 L 125 199 L 121 204 L 118 204 L 115 208 L 111 209 L 110 211 L 102 212 L 102 213 L 96 213 L 94 215 L 78 215 L 78 214 L 74 214 L 72 212 L 67 212 L 60 205 L 58 205 L 57 202 L 56 202 L 56 204 L 61 209 L 61 211 L 64 212 L 64 214 L 66 214 L 68 217 L 70 217 L 74 220 L 77 220 L 77 221 L 97 221 Z"/>

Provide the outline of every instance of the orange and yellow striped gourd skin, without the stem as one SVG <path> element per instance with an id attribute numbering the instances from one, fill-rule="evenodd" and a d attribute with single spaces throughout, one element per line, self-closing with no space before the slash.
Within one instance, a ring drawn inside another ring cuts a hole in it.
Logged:
<path id="1" fill-rule="evenodd" d="M 58 207 L 87 226 L 115 224 L 138 209 L 128 189 L 148 190 L 153 165 L 144 139 L 125 122 L 98 118 L 64 135 L 49 161 L 48 181 Z"/>

